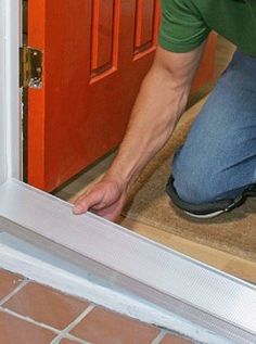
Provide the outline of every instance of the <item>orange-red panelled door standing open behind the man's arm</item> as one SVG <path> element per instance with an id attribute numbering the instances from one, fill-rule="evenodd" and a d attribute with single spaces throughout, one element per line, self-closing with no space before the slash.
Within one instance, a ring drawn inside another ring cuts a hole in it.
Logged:
<path id="1" fill-rule="evenodd" d="M 43 52 L 42 88 L 28 92 L 30 184 L 51 191 L 121 141 L 157 28 L 156 0 L 28 1 L 28 46 Z"/>

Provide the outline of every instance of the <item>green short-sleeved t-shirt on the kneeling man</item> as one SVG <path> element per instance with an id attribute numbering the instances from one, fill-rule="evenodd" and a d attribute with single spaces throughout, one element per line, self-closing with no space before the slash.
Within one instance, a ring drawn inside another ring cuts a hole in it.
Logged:
<path id="1" fill-rule="evenodd" d="M 159 44 L 174 52 L 199 47 L 212 29 L 256 56 L 256 0 L 161 0 Z"/>

